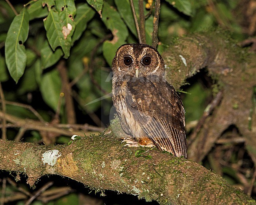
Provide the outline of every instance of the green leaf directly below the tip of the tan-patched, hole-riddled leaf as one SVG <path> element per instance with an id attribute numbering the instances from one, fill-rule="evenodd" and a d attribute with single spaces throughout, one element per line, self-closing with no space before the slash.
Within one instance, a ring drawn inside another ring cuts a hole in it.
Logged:
<path id="1" fill-rule="evenodd" d="M 63 52 L 60 48 L 57 48 L 55 51 L 52 51 L 50 45 L 46 41 L 43 48 L 41 49 L 41 63 L 42 68 L 49 68 L 50 66 L 56 64 L 58 60 L 63 55 Z"/>

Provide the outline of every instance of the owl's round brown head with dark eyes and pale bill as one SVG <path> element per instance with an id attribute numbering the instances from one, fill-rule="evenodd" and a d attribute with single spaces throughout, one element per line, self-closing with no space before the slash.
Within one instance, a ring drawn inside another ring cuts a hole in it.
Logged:
<path id="1" fill-rule="evenodd" d="M 113 74 L 132 77 L 163 76 L 165 63 L 156 48 L 147 44 L 123 44 L 112 62 Z"/>

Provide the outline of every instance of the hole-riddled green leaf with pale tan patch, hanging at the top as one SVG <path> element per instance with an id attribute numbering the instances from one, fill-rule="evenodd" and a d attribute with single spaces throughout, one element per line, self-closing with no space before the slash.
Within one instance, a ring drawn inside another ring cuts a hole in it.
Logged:
<path id="1" fill-rule="evenodd" d="M 55 51 L 58 46 L 64 52 L 64 58 L 69 57 L 71 48 L 71 37 L 75 29 L 74 15 L 76 7 L 73 0 L 58 0 L 56 8 L 54 2 L 43 1 L 47 5 L 49 13 L 44 19 L 46 36 L 51 48 Z"/>

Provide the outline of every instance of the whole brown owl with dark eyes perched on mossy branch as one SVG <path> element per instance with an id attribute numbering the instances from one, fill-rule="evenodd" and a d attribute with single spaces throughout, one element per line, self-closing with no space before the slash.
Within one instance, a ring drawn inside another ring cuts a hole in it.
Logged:
<path id="1" fill-rule="evenodd" d="M 185 110 L 174 87 L 165 81 L 165 62 L 147 44 L 124 44 L 112 62 L 113 103 L 128 146 L 156 146 L 187 157 Z"/>

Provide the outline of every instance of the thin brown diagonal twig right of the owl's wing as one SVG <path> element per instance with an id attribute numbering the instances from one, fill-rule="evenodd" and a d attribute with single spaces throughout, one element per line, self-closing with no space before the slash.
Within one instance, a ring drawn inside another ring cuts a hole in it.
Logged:
<path id="1" fill-rule="evenodd" d="M 206 109 L 204 110 L 204 113 L 202 115 L 202 117 L 200 118 L 200 120 L 197 123 L 197 126 L 195 128 L 195 130 L 193 131 L 193 133 L 190 135 L 189 141 L 187 141 L 187 146 L 190 146 L 193 141 L 195 140 L 195 138 L 197 137 L 198 132 L 200 131 L 200 129 L 202 128 L 206 118 L 210 115 L 210 113 L 213 111 L 213 109 L 220 103 L 221 99 L 223 97 L 223 91 L 220 91 L 217 93 L 217 95 L 215 96 L 215 98 L 211 101 L 210 104 L 208 104 L 208 106 L 206 107 Z"/>

